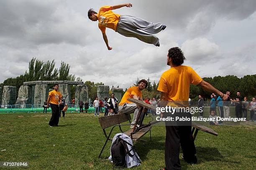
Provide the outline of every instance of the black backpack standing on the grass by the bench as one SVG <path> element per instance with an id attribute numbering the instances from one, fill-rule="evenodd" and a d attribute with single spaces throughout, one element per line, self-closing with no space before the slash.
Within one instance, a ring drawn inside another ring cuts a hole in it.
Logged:
<path id="1" fill-rule="evenodd" d="M 128 146 L 131 146 L 131 150 L 128 149 Z M 133 150 L 133 145 L 122 140 L 121 138 L 117 138 L 111 146 L 111 156 L 113 160 L 113 164 L 115 166 L 126 167 L 126 154 L 133 157 L 134 154 L 130 152 Z"/>

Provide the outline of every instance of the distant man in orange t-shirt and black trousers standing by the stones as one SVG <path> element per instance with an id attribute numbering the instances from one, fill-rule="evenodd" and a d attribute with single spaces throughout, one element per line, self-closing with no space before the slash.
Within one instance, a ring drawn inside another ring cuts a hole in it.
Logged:
<path id="1" fill-rule="evenodd" d="M 47 99 L 47 108 L 49 108 L 49 104 L 51 105 L 51 119 L 49 122 L 50 127 L 58 126 L 59 124 L 59 102 L 61 102 L 61 93 L 58 91 L 59 85 L 54 85 L 54 90 L 49 92 L 49 96 Z"/>

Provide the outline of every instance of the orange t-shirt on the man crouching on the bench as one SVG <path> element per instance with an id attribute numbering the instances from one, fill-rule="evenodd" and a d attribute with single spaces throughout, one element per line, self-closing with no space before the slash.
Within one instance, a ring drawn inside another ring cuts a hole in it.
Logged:
<path id="1" fill-rule="evenodd" d="M 123 95 L 122 100 L 120 101 L 119 105 L 122 106 L 125 103 L 133 103 L 133 102 L 128 101 L 127 99 L 133 98 L 134 95 L 142 98 L 142 91 L 139 90 L 138 86 L 130 87 Z"/>

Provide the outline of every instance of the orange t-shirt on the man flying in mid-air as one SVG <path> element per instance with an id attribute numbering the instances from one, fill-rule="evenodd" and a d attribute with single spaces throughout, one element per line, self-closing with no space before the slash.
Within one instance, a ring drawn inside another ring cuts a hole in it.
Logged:
<path id="1" fill-rule="evenodd" d="M 106 27 L 111 28 L 116 32 L 120 15 L 113 13 L 111 6 L 101 7 L 97 17 L 99 20 L 99 28 L 102 33 L 106 32 Z"/>

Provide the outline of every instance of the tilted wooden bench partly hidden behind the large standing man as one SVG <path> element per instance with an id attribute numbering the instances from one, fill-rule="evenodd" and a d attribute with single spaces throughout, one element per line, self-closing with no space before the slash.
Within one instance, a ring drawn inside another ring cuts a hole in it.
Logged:
<path id="1" fill-rule="evenodd" d="M 128 99 L 128 100 L 133 102 L 133 103 L 136 103 L 137 105 L 140 105 L 141 107 L 145 107 L 145 108 L 148 108 L 150 110 L 154 110 L 156 112 L 156 107 L 154 107 L 152 105 L 149 105 L 149 104 L 147 104 L 147 103 L 145 103 L 145 102 L 143 102 L 141 100 L 136 100 L 136 99 Z M 156 124 L 156 123 L 159 123 L 159 122 L 160 121 L 154 121 L 154 122 L 149 123 L 148 125 L 153 125 L 153 124 Z M 143 126 L 143 127 L 145 127 L 145 126 Z M 143 127 L 141 127 L 141 128 L 143 128 Z M 192 122 L 191 135 L 193 135 L 193 139 L 194 140 L 195 140 L 199 130 L 202 130 L 204 132 L 207 132 L 207 133 L 210 133 L 212 135 L 218 136 L 218 133 L 215 132 L 214 130 L 212 130 L 211 128 L 207 128 L 204 125 L 200 125 L 198 123 Z"/>

